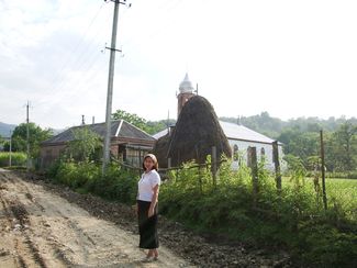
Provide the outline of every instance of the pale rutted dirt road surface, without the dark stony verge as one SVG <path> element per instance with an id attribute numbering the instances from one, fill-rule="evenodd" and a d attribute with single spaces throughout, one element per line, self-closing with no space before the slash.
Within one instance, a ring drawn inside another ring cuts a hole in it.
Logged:
<path id="1" fill-rule="evenodd" d="M 138 236 L 41 185 L 0 169 L 0 267 L 187 267 L 160 247 L 143 264 Z"/>

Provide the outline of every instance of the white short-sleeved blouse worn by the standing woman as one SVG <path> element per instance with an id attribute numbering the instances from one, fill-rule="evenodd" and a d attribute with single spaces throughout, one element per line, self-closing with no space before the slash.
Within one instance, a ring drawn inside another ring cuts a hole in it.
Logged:
<path id="1" fill-rule="evenodd" d="M 156 185 L 160 185 L 160 183 L 161 183 L 160 176 L 155 169 L 148 171 L 147 174 L 144 172 L 142 175 L 141 180 L 137 182 L 138 185 L 137 200 L 152 202 L 153 194 L 154 194 L 153 188 Z"/>

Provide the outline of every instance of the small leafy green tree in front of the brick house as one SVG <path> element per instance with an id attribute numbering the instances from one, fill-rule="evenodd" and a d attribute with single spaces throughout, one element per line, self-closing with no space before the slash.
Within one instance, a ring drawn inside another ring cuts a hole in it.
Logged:
<path id="1" fill-rule="evenodd" d="M 102 142 L 97 133 L 88 127 L 75 129 L 74 141 L 67 147 L 67 157 L 76 161 L 98 160 L 102 149 Z"/>

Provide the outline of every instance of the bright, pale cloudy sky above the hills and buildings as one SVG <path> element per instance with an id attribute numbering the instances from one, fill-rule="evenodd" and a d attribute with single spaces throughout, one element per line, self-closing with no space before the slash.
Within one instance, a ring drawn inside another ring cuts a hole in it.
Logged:
<path id="1" fill-rule="evenodd" d="M 357 116 L 357 1 L 127 0 L 112 111 L 177 118 L 186 72 L 217 116 Z M 105 121 L 114 3 L 0 0 L 0 122 Z"/>

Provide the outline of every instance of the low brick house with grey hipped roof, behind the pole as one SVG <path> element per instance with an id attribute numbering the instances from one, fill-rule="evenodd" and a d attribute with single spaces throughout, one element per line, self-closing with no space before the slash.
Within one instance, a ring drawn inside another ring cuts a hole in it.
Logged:
<path id="1" fill-rule="evenodd" d="M 102 139 L 105 123 L 72 126 L 41 144 L 41 167 L 48 167 L 65 150 L 68 142 L 74 141 L 74 131 L 88 127 Z M 142 157 L 153 149 L 155 138 L 124 120 L 111 122 L 111 155 L 129 165 L 141 167 Z"/>

